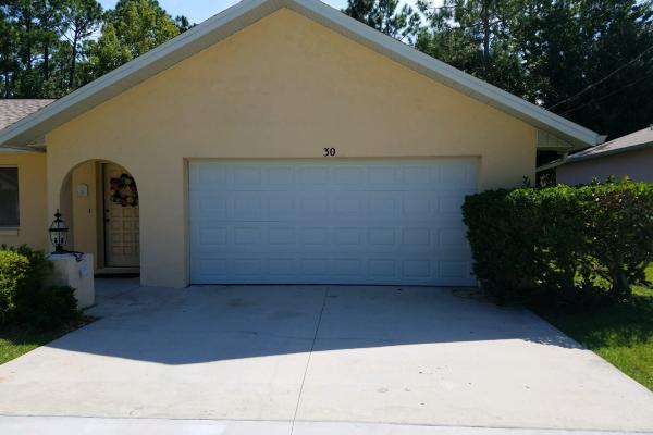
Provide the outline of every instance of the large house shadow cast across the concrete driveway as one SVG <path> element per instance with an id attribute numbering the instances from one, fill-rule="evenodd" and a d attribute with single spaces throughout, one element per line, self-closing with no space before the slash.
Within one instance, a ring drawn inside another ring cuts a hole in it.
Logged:
<path id="1" fill-rule="evenodd" d="M 115 288 L 122 286 L 122 288 Z M 527 310 L 472 289 L 193 286 L 99 281 L 102 319 L 50 347 L 163 364 L 380 346 L 519 339 L 577 348 Z"/>

